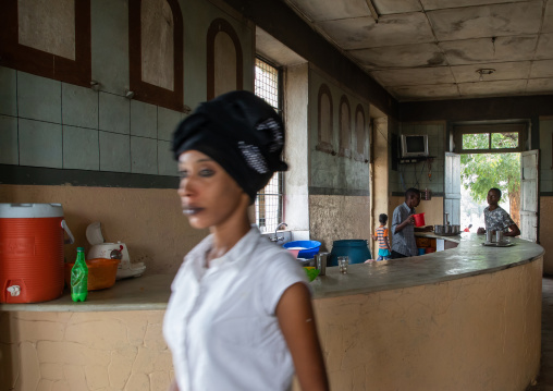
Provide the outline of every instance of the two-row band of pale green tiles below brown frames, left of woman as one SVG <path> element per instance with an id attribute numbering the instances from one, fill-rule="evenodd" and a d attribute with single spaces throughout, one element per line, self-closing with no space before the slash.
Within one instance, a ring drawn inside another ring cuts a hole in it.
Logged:
<path id="1" fill-rule="evenodd" d="M 0 66 L 0 163 L 176 175 L 183 113 Z"/>

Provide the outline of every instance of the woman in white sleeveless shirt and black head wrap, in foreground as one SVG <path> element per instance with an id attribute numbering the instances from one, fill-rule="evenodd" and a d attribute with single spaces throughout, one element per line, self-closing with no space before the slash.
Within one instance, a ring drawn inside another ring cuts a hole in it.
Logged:
<path id="1" fill-rule="evenodd" d="M 248 206 L 281 161 L 284 129 L 262 99 L 233 91 L 202 103 L 173 135 L 177 194 L 210 235 L 171 285 L 163 335 L 172 390 L 328 390 L 304 270 L 251 228 Z"/>

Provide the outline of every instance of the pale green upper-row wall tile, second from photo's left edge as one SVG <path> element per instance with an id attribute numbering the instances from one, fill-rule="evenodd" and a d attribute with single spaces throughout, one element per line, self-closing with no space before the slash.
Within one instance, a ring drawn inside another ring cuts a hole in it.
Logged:
<path id="1" fill-rule="evenodd" d="M 61 82 L 17 72 L 19 117 L 61 123 Z"/>

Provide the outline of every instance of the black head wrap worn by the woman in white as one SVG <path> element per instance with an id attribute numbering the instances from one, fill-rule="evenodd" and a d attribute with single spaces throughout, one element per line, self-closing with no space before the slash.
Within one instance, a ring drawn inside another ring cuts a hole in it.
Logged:
<path id="1" fill-rule="evenodd" d="M 286 171 L 281 160 L 284 125 L 263 99 L 249 91 L 232 91 L 201 103 L 173 133 L 175 160 L 186 150 L 198 150 L 217 161 L 256 199 L 275 171 Z"/>

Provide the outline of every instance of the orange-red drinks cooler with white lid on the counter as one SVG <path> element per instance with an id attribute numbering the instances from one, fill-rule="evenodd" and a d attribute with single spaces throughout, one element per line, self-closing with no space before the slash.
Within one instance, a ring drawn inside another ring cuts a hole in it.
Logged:
<path id="1" fill-rule="evenodd" d="M 63 292 L 60 204 L 0 204 L 0 303 L 37 303 Z"/>

